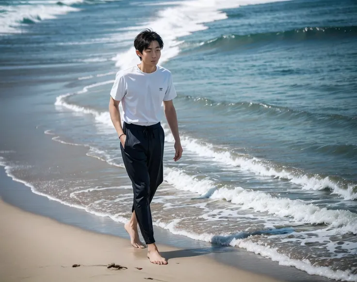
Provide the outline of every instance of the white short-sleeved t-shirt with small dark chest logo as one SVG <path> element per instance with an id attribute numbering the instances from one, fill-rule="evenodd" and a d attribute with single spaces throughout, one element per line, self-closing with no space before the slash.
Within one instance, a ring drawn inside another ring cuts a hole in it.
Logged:
<path id="1" fill-rule="evenodd" d="M 110 95 L 122 102 L 122 120 L 146 126 L 161 121 L 162 101 L 177 96 L 171 72 L 162 66 L 152 73 L 143 72 L 138 66 L 118 71 Z"/>

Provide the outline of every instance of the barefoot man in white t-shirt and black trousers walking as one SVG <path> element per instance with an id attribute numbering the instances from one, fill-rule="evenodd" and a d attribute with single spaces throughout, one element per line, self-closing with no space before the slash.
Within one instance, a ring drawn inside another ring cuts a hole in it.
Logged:
<path id="1" fill-rule="evenodd" d="M 172 101 L 177 94 L 171 72 L 157 66 L 163 48 L 160 35 L 144 30 L 136 36 L 134 47 L 141 63 L 116 74 L 109 102 L 109 113 L 120 139 L 124 165 L 134 192 L 132 215 L 125 224 L 125 230 L 130 235 L 133 247 L 145 248 L 139 240 L 139 224 L 148 248 L 148 259 L 153 264 L 166 265 L 167 261 L 155 245 L 150 202 L 163 181 L 162 105 L 175 138 L 175 162 L 182 155 L 176 110 Z M 123 106 L 123 127 L 119 113 L 120 101 Z"/>

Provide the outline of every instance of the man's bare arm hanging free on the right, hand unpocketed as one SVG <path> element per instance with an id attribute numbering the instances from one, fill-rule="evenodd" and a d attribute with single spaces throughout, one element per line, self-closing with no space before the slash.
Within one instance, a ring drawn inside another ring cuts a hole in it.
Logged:
<path id="1" fill-rule="evenodd" d="M 169 127 L 171 129 L 171 133 L 172 135 L 174 135 L 175 138 L 176 152 L 175 152 L 174 160 L 176 162 L 181 158 L 183 149 L 181 146 L 181 141 L 179 136 L 179 125 L 178 125 L 176 110 L 173 101 L 172 100 L 163 101 L 163 109 L 165 112 L 167 123 L 169 124 Z"/>

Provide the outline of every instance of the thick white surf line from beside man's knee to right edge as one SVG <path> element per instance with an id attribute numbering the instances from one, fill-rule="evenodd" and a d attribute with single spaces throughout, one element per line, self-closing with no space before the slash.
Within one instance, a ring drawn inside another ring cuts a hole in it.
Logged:
<path id="1" fill-rule="evenodd" d="M 339 232 L 357 234 L 357 215 L 347 210 L 329 210 L 320 208 L 303 200 L 276 198 L 261 191 L 250 191 L 242 187 L 217 189 L 215 182 L 209 178 L 198 180 L 177 168 L 165 167 L 165 180 L 176 189 L 190 191 L 199 195 L 210 192 L 210 199 L 221 199 L 238 205 L 243 210 L 293 218 L 296 222 L 309 224 L 326 224 L 339 228 Z"/>

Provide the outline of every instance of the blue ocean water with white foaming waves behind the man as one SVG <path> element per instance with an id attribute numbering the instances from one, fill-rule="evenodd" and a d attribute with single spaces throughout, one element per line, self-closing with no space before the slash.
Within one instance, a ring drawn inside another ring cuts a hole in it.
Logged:
<path id="1" fill-rule="evenodd" d="M 161 34 L 184 154 L 165 121 L 154 225 L 357 281 L 354 0 L 29 0 L 0 6 L 0 162 L 34 193 L 125 222 L 108 112 L 133 38 Z M 42 146 L 60 142 L 62 150 Z M 72 157 L 65 150 L 85 151 Z M 85 168 L 97 158 L 107 168 Z M 83 168 L 84 167 L 84 168 Z"/>

